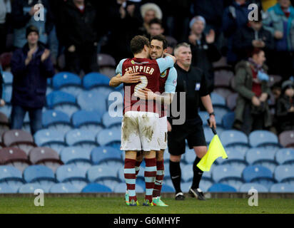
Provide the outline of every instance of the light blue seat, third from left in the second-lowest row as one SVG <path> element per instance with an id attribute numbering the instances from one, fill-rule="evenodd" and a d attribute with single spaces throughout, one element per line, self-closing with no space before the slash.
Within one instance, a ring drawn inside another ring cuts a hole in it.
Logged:
<path id="1" fill-rule="evenodd" d="M 79 191 L 81 191 L 88 183 L 86 170 L 83 170 L 76 165 L 61 165 L 56 170 L 56 180 L 59 182 L 69 182 Z"/>

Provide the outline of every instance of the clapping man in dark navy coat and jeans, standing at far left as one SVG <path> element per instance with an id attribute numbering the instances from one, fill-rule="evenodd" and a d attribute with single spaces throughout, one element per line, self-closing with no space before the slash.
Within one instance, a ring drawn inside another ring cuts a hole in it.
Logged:
<path id="1" fill-rule="evenodd" d="M 39 42 L 39 31 L 26 28 L 27 43 L 11 58 L 12 83 L 11 129 L 21 129 L 29 112 L 31 134 L 42 128 L 42 108 L 46 104 L 47 78 L 54 76 L 50 51 Z"/>

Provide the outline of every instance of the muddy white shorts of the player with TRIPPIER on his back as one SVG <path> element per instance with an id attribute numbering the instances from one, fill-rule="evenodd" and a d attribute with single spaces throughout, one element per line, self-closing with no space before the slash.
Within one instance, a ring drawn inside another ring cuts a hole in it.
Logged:
<path id="1" fill-rule="evenodd" d="M 157 113 L 128 111 L 121 123 L 121 150 L 160 150 Z"/>

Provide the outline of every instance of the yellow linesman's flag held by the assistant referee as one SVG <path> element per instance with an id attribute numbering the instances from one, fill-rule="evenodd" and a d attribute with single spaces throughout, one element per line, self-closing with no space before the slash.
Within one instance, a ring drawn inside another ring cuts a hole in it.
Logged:
<path id="1" fill-rule="evenodd" d="M 218 158 L 223 157 L 223 159 L 228 158 L 228 155 L 225 153 L 225 149 L 220 142 L 218 135 L 214 135 L 213 140 L 209 144 L 208 152 L 204 155 L 200 162 L 198 162 L 197 167 L 202 171 L 211 170 L 211 165 Z"/>

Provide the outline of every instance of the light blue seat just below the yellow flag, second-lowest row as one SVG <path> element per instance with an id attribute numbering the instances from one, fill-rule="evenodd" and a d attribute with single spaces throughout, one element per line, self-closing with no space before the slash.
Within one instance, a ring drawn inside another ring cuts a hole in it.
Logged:
<path id="1" fill-rule="evenodd" d="M 235 187 L 236 190 L 243 184 L 242 171 L 230 165 L 218 165 L 213 168 L 214 182 L 220 182 Z"/>

